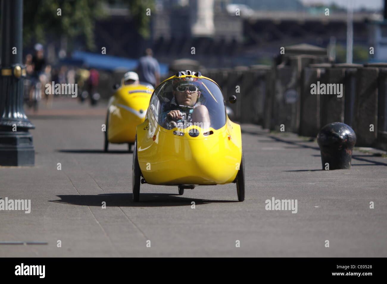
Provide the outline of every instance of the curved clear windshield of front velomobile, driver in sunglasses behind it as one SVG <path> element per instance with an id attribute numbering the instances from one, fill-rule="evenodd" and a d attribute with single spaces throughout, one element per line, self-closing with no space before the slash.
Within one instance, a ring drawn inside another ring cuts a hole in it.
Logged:
<path id="1" fill-rule="evenodd" d="M 226 124 L 226 109 L 220 88 L 202 78 L 171 78 L 153 93 L 150 109 L 166 129 L 197 125 L 219 129 Z"/>

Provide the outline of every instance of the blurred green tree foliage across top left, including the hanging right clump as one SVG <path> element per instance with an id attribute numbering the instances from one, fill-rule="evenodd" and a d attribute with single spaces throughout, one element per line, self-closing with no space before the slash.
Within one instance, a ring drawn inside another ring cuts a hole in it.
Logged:
<path id="1" fill-rule="evenodd" d="M 128 7 L 137 32 L 150 36 L 151 16 L 156 12 L 155 0 L 24 0 L 24 44 L 31 40 L 45 43 L 47 34 L 67 37 L 70 42 L 83 36 L 88 49 L 94 49 L 94 24 L 108 16 L 106 7 Z M 151 15 L 147 15 L 147 9 Z M 61 15 L 58 15 L 61 9 Z"/>

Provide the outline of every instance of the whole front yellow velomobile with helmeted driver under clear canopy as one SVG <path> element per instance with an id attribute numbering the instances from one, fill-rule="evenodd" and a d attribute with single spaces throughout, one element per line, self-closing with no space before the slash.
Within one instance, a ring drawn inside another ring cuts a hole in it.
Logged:
<path id="1" fill-rule="evenodd" d="M 235 96 L 228 100 L 236 101 Z M 229 120 L 217 83 L 200 72 L 180 71 L 154 90 L 134 144 L 133 200 L 140 184 L 178 186 L 236 183 L 245 198 L 240 125 Z"/>

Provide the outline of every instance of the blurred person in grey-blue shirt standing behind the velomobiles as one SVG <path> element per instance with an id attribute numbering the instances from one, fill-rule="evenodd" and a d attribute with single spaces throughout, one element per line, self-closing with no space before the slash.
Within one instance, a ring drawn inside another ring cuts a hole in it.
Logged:
<path id="1" fill-rule="evenodd" d="M 145 56 L 140 57 L 137 73 L 140 81 L 147 82 L 156 87 L 160 83 L 160 67 L 156 58 L 152 57 L 152 49 L 145 50 Z"/>

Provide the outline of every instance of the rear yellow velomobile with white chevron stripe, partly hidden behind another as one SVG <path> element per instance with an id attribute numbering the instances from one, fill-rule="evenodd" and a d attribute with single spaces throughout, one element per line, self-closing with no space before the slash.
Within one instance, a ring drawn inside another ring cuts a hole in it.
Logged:
<path id="1" fill-rule="evenodd" d="M 135 141 L 136 126 L 145 120 L 149 100 L 153 92 L 152 85 L 130 84 L 116 85 L 116 90 L 108 103 L 104 151 L 109 143 L 128 143 L 131 151 Z"/>

